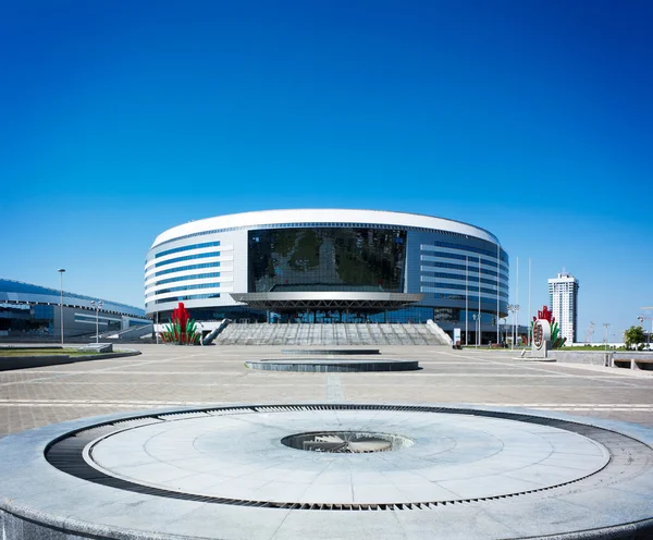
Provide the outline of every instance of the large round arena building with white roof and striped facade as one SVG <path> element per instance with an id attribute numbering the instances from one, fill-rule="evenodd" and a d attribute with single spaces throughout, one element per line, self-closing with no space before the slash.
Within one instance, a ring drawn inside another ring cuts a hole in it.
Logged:
<path id="1" fill-rule="evenodd" d="M 497 237 L 468 223 L 378 210 L 267 210 L 157 236 L 145 262 L 145 307 L 161 322 L 183 302 L 202 322 L 432 319 L 449 334 L 472 333 L 480 317 L 486 343 L 507 315 L 508 275 Z"/>

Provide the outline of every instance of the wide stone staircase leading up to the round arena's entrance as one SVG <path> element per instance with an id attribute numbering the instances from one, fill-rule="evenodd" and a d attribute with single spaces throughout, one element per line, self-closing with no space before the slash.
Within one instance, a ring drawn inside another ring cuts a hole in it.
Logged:
<path id="1" fill-rule="evenodd" d="M 230 323 L 217 345 L 449 345 L 434 323 Z"/>

